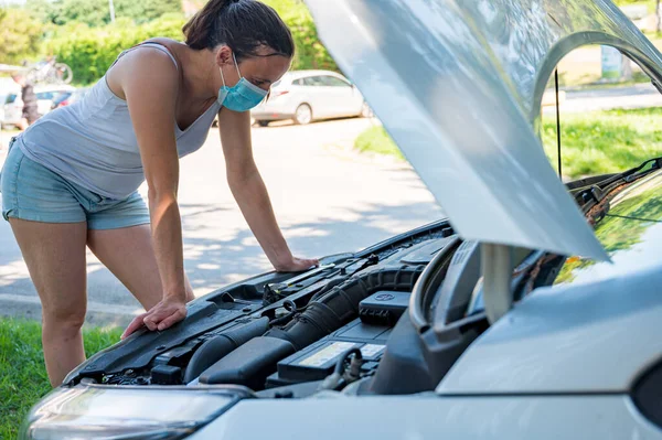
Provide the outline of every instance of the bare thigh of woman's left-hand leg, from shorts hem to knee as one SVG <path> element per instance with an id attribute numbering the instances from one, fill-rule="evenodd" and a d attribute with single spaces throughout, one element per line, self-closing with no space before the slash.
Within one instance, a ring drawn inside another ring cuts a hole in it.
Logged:
<path id="1" fill-rule="evenodd" d="M 86 223 L 20 218 L 9 223 L 41 298 L 44 320 L 82 325 L 87 307 Z"/>

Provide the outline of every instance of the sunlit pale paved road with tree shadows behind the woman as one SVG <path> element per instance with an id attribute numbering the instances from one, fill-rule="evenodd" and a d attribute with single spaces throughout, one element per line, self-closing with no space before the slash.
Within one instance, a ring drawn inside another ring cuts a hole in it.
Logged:
<path id="1" fill-rule="evenodd" d="M 256 162 L 296 255 L 357 250 L 442 216 L 406 164 L 351 150 L 356 136 L 373 124 L 348 119 L 253 130 Z M 2 140 L 7 146 L 7 133 Z M 0 151 L 0 161 L 3 154 Z M 180 204 L 185 268 L 196 296 L 270 269 L 225 182 L 217 129 L 199 152 L 182 160 Z M 124 325 L 141 311 L 92 254 L 87 271 L 88 323 Z M 0 313 L 40 314 L 28 270 L 3 221 Z"/>

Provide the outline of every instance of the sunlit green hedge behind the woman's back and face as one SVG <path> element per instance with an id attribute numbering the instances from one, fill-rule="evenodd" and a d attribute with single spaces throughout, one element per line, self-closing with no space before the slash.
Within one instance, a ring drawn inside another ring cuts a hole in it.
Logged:
<path id="1" fill-rule="evenodd" d="M 303 3 L 295 0 L 266 0 L 292 30 L 297 44 L 293 69 L 323 68 L 337 71 L 335 63 L 320 43 L 310 12 Z M 185 20 L 179 14 L 166 14 L 145 24 L 134 24 L 129 19 L 114 24 L 89 28 L 83 23 L 57 26 L 53 37 L 45 42 L 44 52 L 54 54 L 68 64 L 74 82 L 87 85 L 98 81 L 117 55 L 141 41 L 154 36 L 183 40 L 181 29 Z"/>

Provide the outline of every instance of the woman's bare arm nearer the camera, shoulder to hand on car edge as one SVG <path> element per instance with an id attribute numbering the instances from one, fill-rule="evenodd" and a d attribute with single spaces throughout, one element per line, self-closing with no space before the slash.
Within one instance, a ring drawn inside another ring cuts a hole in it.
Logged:
<path id="1" fill-rule="evenodd" d="M 142 325 L 164 330 L 186 315 L 182 227 L 177 201 L 179 158 L 174 138 L 179 73 L 153 49 L 126 54 L 113 68 L 113 85 L 126 97 L 149 187 L 152 239 L 163 299 L 137 316 L 125 336 Z M 109 82 L 110 84 L 110 82 Z"/>

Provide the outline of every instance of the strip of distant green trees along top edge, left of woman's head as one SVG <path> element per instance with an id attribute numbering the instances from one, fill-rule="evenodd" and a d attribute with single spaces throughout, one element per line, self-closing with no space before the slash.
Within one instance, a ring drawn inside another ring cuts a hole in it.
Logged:
<path id="1" fill-rule="evenodd" d="M 115 17 L 135 23 L 156 20 L 166 13 L 182 13 L 181 0 L 114 0 Z M 110 22 L 108 0 L 28 0 L 35 19 L 57 25 L 81 22 L 100 26 Z"/>

